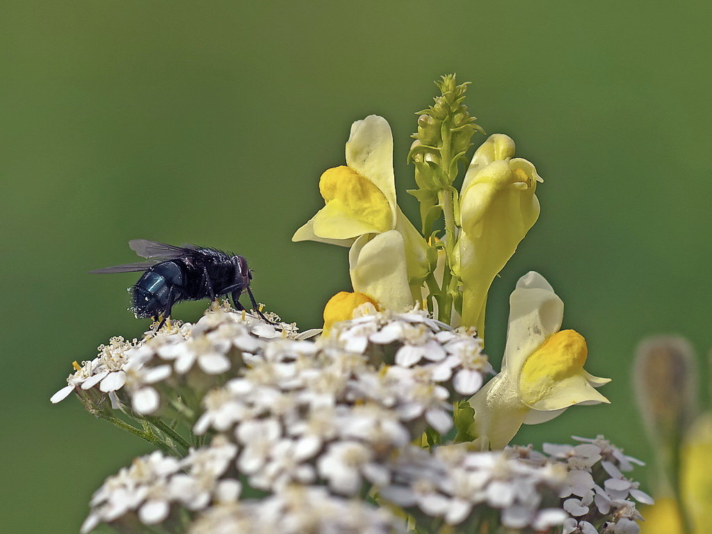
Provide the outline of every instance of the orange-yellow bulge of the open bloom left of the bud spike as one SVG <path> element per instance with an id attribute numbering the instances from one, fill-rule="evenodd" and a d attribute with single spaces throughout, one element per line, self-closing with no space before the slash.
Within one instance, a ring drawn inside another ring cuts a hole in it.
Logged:
<path id="1" fill-rule="evenodd" d="M 392 210 L 385 195 L 350 167 L 326 170 L 319 180 L 319 192 L 327 204 L 353 219 L 381 232 L 391 229 Z"/>

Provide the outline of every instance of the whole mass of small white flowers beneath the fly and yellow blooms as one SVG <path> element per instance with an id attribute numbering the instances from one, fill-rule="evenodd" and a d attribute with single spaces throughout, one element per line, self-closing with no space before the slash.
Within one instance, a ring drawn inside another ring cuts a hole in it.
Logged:
<path id="1" fill-rule="evenodd" d="M 190 436 L 183 451 L 194 445 L 183 459 L 155 452 L 108 478 L 83 533 L 99 523 L 192 534 L 403 531 L 392 507 L 424 532 L 485 523 L 637 532 L 627 499 L 649 497 L 622 474 L 634 460 L 602 438 L 548 445 L 547 454 L 412 444 L 426 430 L 448 433 L 452 403 L 491 373 L 472 331 L 412 310 L 312 334 L 222 305 L 195 325 L 112 338 L 95 360 L 76 365 L 53 402 L 77 392 L 90 411 L 119 408 L 154 429 L 152 438 L 180 443 L 174 427 L 161 426 L 169 416 Z M 254 491 L 265 496 L 249 498 Z"/>

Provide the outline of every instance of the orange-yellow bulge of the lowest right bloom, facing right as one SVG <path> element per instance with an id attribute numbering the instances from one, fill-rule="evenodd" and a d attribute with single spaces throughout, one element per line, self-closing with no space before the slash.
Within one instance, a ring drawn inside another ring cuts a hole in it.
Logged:
<path id="1" fill-rule="evenodd" d="M 587 355 L 586 340 L 575 330 L 547 337 L 522 366 L 519 389 L 524 404 L 538 402 L 557 382 L 579 374 Z"/>

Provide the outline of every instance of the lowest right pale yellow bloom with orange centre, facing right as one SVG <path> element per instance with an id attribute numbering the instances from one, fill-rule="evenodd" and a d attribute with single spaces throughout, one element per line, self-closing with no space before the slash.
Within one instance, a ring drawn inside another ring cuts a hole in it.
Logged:
<path id="1" fill-rule="evenodd" d="M 594 389 L 609 382 L 587 373 L 587 346 L 560 330 L 564 303 L 543 276 L 530 271 L 513 290 L 502 370 L 469 401 L 468 430 L 480 444 L 501 449 L 522 424 L 549 421 L 574 404 L 609 400 Z"/>

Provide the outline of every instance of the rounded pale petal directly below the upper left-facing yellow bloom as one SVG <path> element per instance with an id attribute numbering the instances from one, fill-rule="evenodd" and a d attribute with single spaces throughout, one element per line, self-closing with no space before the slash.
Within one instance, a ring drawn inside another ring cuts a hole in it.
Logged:
<path id="1" fill-rule="evenodd" d="M 374 298 L 381 309 L 411 308 L 405 247 L 399 232 L 365 235 L 349 251 L 349 273 L 355 291 Z"/>

